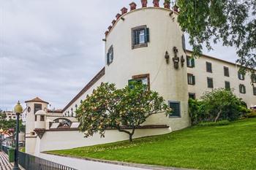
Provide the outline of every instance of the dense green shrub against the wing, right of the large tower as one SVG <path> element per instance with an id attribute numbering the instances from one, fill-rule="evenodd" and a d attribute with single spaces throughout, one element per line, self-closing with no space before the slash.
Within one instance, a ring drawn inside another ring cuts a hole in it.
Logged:
<path id="1" fill-rule="evenodd" d="M 223 88 L 205 93 L 200 101 L 189 99 L 189 115 L 192 125 L 218 120 L 238 120 L 249 112 L 244 101 L 232 90 Z"/>

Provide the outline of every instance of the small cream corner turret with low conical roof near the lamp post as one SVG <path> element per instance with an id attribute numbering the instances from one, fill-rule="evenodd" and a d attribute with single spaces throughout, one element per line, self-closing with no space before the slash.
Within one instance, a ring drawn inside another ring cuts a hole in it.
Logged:
<path id="1" fill-rule="evenodd" d="M 36 112 L 43 111 L 48 112 L 48 102 L 42 101 L 40 98 L 34 98 L 26 103 L 26 152 L 34 153 L 34 147 L 36 144 L 37 134 L 34 129 L 36 128 Z"/>

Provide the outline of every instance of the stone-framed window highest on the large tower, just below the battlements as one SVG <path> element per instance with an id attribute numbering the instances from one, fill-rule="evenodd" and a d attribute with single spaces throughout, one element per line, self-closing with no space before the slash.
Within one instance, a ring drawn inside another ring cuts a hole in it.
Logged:
<path id="1" fill-rule="evenodd" d="M 149 28 L 139 26 L 132 28 L 132 49 L 147 47 L 149 42 Z"/>

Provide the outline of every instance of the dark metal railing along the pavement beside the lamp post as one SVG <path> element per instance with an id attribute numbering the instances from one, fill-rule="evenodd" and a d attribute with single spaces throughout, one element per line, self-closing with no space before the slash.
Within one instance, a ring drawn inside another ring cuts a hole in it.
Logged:
<path id="1" fill-rule="evenodd" d="M 8 154 L 9 147 L 2 146 L 2 150 Z M 34 155 L 29 155 L 25 152 L 19 152 L 19 164 L 26 170 L 77 170 L 70 168 L 68 166 L 61 165 L 59 163 L 54 163 L 52 161 L 47 161 L 42 158 L 38 158 Z"/>

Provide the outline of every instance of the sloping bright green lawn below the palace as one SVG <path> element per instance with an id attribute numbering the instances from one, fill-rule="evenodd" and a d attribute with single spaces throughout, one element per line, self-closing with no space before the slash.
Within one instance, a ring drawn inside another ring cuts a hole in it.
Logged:
<path id="1" fill-rule="evenodd" d="M 256 169 L 256 118 L 50 153 L 192 169 Z"/>

